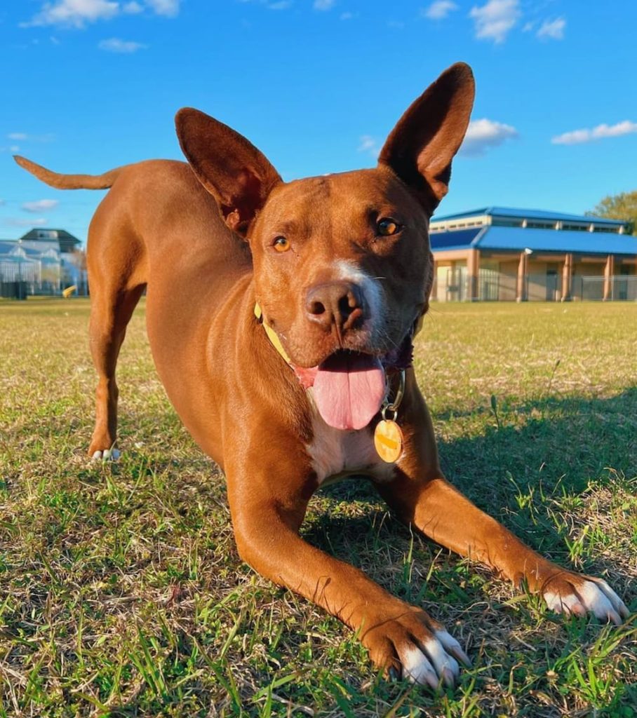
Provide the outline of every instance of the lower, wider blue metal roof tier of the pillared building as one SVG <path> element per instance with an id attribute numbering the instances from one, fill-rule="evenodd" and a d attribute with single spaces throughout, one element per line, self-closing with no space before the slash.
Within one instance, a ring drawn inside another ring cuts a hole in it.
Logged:
<path id="1" fill-rule="evenodd" d="M 491 251 L 572 252 L 637 255 L 637 237 L 614 232 L 577 232 L 521 227 L 477 227 L 433 232 L 432 250 L 476 248 Z"/>

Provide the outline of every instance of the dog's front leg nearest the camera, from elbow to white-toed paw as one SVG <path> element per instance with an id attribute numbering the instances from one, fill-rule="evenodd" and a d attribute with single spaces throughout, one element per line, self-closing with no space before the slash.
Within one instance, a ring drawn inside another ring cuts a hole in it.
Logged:
<path id="1" fill-rule="evenodd" d="M 277 443 L 290 445 L 281 437 Z M 452 685 L 456 658 L 468 658 L 440 623 L 299 536 L 315 479 L 311 471 L 299 474 L 299 466 L 307 465 L 302 452 L 287 449 L 274 456 L 272 446 L 243 450 L 241 459 L 225 467 L 241 558 L 358 631 L 378 668 L 433 687 L 440 681 Z"/>

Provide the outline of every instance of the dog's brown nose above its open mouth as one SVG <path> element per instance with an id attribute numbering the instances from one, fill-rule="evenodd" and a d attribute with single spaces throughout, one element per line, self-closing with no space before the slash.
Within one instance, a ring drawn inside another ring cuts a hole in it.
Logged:
<path id="1" fill-rule="evenodd" d="M 326 281 L 307 290 L 305 312 L 325 331 L 348 330 L 363 317 L 363 293 L 348 281 Z"/>

